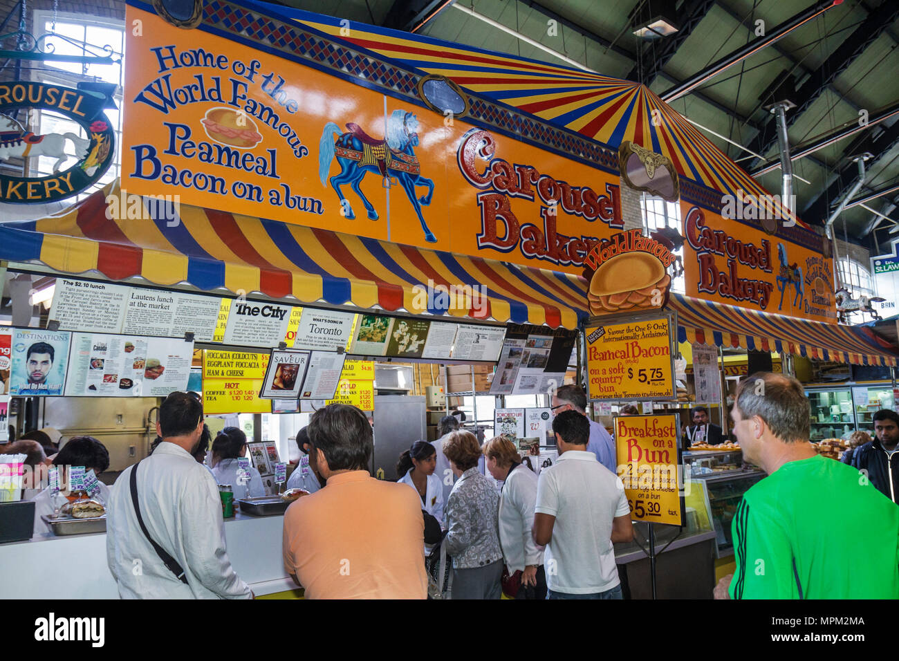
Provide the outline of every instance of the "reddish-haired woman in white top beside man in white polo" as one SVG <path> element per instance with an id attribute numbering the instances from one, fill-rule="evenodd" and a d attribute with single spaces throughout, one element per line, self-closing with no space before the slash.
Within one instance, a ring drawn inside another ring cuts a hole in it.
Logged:
<path id="1" fill-rule="evenodd" d="M 518 578 L 522 586 L 534 586 L 537 599 L 546 599 L 543 549 L 534 543 L 530 533 L 534 527 L 534 506 L 537 505 L 537 474 L 521 463 L 521 455 L 514 443 L 502 436 L 484 443 L 484 456 L 487 470 L 497 482 L 503 483 L 499 509 L 500 545 L 510 584 L 516 585 Z"/>

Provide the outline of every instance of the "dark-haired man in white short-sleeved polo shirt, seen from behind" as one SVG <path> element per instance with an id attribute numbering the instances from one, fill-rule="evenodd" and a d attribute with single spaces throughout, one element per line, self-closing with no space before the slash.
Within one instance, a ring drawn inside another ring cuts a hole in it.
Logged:
<path id="1" fill-rule="evenodd" d="M 587 451 L 584 415 L 563 411 L 553 432 L 559 458 L 540 471 L 533 530 L 547 547 L 547 599 L 621 599 L 612 542 L 634 539 L 624 484 Z"/>

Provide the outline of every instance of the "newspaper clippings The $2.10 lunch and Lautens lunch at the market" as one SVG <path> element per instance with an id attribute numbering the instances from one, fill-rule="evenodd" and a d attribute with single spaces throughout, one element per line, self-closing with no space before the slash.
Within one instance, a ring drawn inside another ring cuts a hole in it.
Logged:
<path id="1" fill-rule="evenodd" d="M 57 278 L 49 319 L 62 330 L 183 337 L 210 342 L 221 299 L 181 291 Z"/>

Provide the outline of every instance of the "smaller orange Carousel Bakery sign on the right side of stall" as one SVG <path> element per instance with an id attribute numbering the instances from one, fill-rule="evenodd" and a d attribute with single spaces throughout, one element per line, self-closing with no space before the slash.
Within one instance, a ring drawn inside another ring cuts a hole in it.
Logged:
<path id="1" fill-rule="evenodd" d="M 832 260 L 786 237 L 681 201 L 686 293 L 836 323 Z"/>

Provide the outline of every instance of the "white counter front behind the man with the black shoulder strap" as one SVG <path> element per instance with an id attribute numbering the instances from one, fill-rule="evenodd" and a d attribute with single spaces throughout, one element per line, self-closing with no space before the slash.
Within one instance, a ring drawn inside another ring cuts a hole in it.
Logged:
<path id="1" fill-rule="evenodd" d="M 228 558 L 254 594 L 297 587 L 284 569 L 281 540 L 284 517 L 236 514 L 225 522 Z M 138 531 L 139 534 L 139 531 Z M 0 544 L 2 599 L 117 599 L 106 564 L 106 533 Z"/>

